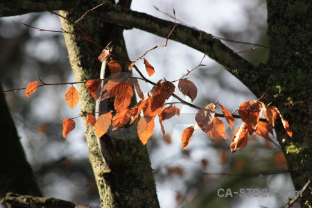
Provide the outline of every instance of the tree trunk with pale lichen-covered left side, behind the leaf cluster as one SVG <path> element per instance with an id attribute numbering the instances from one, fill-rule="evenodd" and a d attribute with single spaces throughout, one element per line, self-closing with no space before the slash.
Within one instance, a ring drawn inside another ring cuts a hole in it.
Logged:
<path id="1" fill-rule="evenodd" d="M 88 8 L 92 8 L 92 6 Z M 74 12 L 60 12 L 60 15 L 75 21 L 83 13 L 83 10 L 75 10 Z M 101 15 L 101 9 L 89 13 L 87 18 L 79 23 L 80 28 L 83 28 L 92 37 L 92 40 L 102 46 L 113 41 L 113 52 L 127 58 L 122 36 L 123 28 L 98 21 L 99 14 Z M 78 29 L 73 27 L 69 21 L 64 19 L 61 21 L 65 31 L 79 33 Z M 97 57 L 101 53 L 101 49 L 75 35 L 65 34 L 64 36 L 76 81 L 99 78 L 101 62 L 97 60 Z M 125 63 L 123 63 L 123 67 L 127 68 Z M 105 71 L 105 76 L 108 75 Z M 81 111 L 94 112 L 95 101 L 85 85 L 78 85 L 78 92 Z M 159 207 L 146 146 L 141 144 L 138 137 L 130 139 L 117 137 L 116 139 L 105 135 L 101 138 L 102 144 L 104 144 L 103 153 L 110 155 L 110 158 L 103 158 L 101 148 L 96 142 L 94 128 L 87 125 L 85 121 L 84 118 L 89 159 L 94 169 L 102 207 Z M 120 130 L 116 131 L 115 135 L 122 134 L 119 133 Z"/>

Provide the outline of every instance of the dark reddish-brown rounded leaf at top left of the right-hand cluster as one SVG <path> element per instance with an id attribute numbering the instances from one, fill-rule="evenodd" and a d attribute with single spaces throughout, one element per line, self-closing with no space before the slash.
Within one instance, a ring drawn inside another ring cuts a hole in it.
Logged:
<path id="1" fill-rule="evenodd" d="M 261 116 L 261 103 L 259 101 L 247 101 L 239 106 L 239 116 L 247 125 L 255 127 Z"/>

